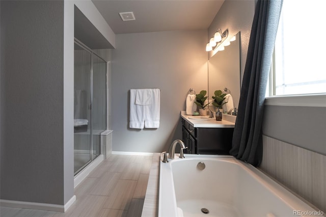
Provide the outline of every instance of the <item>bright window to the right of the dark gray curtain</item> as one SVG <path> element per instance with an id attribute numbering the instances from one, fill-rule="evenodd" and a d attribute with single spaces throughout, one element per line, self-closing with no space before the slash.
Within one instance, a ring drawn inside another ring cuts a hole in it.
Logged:
<path id="1" fill-rule="evenodd" d="M 326 93 L 326 7 L 284 0 L 269 79 L 269 96 Z"/>

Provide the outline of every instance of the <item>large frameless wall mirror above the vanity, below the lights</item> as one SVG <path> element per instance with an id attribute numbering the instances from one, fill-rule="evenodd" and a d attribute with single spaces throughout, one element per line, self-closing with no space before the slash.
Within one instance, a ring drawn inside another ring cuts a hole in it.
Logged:
<path id="1" fill-rule="evenodd" d="M 208 60 L 208 99 L 210 110 L 215 90 L 227 88 L 233 98 L 234 107 L 238 108 L 240 98 L 240 32 L 235 35 L 224 50 L 218 51 Z M 227 111 L 224 111 L 227 112 Z"/>

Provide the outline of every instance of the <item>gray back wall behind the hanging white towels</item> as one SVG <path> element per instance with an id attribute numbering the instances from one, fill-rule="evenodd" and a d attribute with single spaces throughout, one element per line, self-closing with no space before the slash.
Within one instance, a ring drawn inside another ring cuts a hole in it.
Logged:
<path id="1" fill-rule="evenodd" d="M 112 51 L 113 151 L 162 152 L 181 139 L 189 88 L 207 90 L 207 31 L 121 34 Z M 158 129 L 130 129 L 129 90 L 160 89 Z"/>

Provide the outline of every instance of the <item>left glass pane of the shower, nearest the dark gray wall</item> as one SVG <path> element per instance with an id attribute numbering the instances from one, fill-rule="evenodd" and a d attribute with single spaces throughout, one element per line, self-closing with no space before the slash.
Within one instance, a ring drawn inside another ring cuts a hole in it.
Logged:
<path id="1" fill-rule="evenodd" d="M 92 53 L 74 45 L 74 174 L 91 159 Z"/>

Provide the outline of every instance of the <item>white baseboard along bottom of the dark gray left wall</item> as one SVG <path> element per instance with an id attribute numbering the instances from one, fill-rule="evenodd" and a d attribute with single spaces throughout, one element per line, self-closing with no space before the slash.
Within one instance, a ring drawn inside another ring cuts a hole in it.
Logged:
<path id="1" fill-rule="evenodd" d="M 55 212 L 65 212 L 75 202 L 76 196 L 72 196 L 65 205 L 48 204 L 48 203 L 35 203 L 25 201 L 13 201 L 13 200 L 0 200 L 1 206 L 21 208 L 21 209 L 38 209 Z"/>

